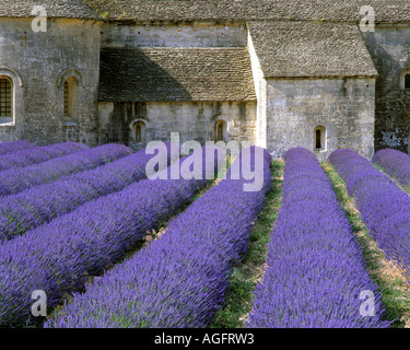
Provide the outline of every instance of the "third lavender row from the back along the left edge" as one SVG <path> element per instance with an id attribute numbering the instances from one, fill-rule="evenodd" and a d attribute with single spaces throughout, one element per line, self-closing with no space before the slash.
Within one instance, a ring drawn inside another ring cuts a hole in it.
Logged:
<path id="1" fill-rule="evenodd" d="M 0 197 L 15 195 L 33 186 L 54 183 L 62 176 L 101 166 L 128 154 L 131 154 L 131 150 L 122 144 L 105 144 L 59 156 L 42 164 L 11 168 L 0 173 Z"/>

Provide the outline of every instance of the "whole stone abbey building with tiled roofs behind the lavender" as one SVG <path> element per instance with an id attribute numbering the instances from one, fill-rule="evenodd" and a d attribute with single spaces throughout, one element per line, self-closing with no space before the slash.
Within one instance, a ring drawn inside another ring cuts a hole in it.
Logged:
<path id="1" fill-rule="evenodd" d="M 372 156 L 408 151 L 409 91 L 408 0 L 0 0 L 0 141 Z"/>

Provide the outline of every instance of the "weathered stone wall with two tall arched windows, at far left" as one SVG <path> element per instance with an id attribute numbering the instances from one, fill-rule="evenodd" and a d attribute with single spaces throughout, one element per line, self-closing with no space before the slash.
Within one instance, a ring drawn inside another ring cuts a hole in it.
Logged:
<path id="1" fill-rule="evenodd" d="M 0 125 L 0 141 L 26 139 L 37 144 L 69 138 L 96 144 L 101 24 L 48 19 L 35 33 L 32 19 L 0 19 L 0 75 L 14 82 L 12 125 Z M 79 135 L 65 125 L 63 82 L 79 80 Z"/>

